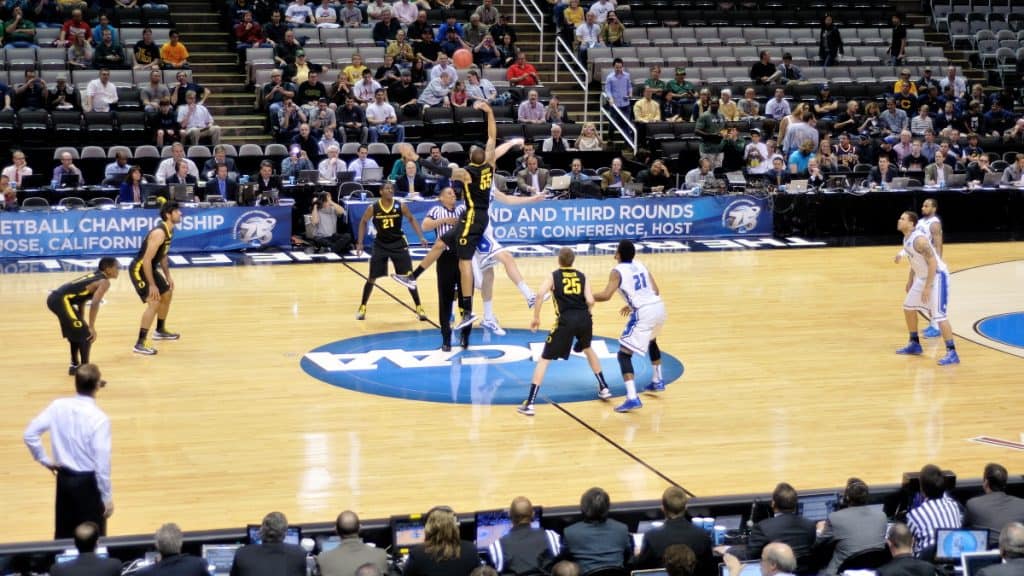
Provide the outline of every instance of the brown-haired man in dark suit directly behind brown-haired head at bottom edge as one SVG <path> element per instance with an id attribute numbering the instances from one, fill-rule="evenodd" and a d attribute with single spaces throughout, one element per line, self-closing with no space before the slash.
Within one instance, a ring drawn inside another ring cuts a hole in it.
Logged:
<path id="1" fill-rule="evenodd" d="M 686 492 L 678 486 L 670 486 L 662 494 L 665 524 L 644 534 L 640 556 L 636 560 L 637 569 L 662 568 L 665 566 L 665 550 L 669 546 L 686 544 L 696 556 L 695 574 L 703 576 L 715 573 L 711 538 L 686 518 L 688 499 Z"/>

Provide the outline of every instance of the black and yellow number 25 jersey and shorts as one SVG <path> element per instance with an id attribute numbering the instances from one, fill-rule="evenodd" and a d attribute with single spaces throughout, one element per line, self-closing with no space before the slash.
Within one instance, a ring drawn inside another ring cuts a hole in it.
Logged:
<path id="1" fill-rule="evenodd" d="M 548 334 L 541 358 L 565 360 L 572 349 L 581 352 L 589 348 L 594 335 L 594 321 L 587 305 L 587 296 L 584 294 L 587 277 L 570 268 L 561 268 L 551 274 L 552 300 L 555 302 L 558 320 L 554 330 Z M 575 347 L 572 346 L 573 339 L 577 341 Z"/>

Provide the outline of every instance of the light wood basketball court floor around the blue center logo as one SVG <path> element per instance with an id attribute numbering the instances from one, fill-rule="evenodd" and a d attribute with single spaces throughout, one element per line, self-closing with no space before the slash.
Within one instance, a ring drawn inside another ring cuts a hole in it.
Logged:
<path id="1" fill-rule="evenodd" d="M 1019 438 L 1024 360 L 963 338 L 955 367 L 935 365 L 934 340 L 923 358 L 893 354 L 906 340 L 907 269 L 892 262 L 897 240 L 643 256 L 668 301 L 662 348 L 685 374 L 632 414 L 598 401 L 564 408 L 700 496 L 765 492 L 782 480 L 835 487 L 851 475 L 892 483 L 928 461 L 965 477 L 991 460 L 1022 471 L 1021 452 L 967 439 Z M 946 260 L 953 271 L 1024 260 L 1024 244 L 949 244 Z M 531 285 L 555 264 L 518 262 Z M 612 263 L 609 255 L 578 260 L 596 289 Z M 44 304 L 47 290 L 72 276 L 0 276 L 0 501 L 16 519 L 0 524 L 0 541 L 52 534 L 53 480 L 32 462 L 22 433 L 73 390 L 67 346 Z M 976 319 L 958 314 L 972 302 L 1020 310 L 1022 278 L 1020 265 L 965 285 L 954 275 L 955 330 L 972 330 Z M 519 494 L 564 505 L 593 485 L 613 501 L 654 499 L 666 487 L 551 406 L 529 419 L 510 406 L 384 398 L 308 376 L 299 361 L 316 346 L 426 327 L 380 292 L 367 321 L 354 321 L 362 280 L 344 265 L 178 269 L 174 279 L 169 326 L 183 337 L 158 342 L 157 357 L 130 352 L 142 305 L 126 275 L 99 314 L 93 360 L 110 382 L 99 403 L 114 425 L 114 534 L 150 533 L 168 521 L 185 530 L 241 526 L 271 509 L 308 523 L 344 508 L 365 518 L 437 503 L 472 511 Z M 390 280 L 382 284 L 408 300 Z M 432 272 L 421 285 L 433 315 Z M 496 301 L 506 327 L 528 325 L 501 273 Z M 618 333 L 620 305 L 598 305 L 597 334 Z M 545 315 L 547 326 L 550 307 Z M 618 383 L 614 362 L 605 366 Z"/>

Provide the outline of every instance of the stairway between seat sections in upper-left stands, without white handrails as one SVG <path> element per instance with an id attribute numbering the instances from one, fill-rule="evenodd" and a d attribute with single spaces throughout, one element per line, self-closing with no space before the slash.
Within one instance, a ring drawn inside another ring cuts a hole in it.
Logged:
<path id="1" fill-rule="evenodd" d="M 263 117 L 253 111 L 253 93 L 246 88 L 238 55 L 229 48 L 230 35 L 222 29 L 215 6 L 209 0 L 170 2 L 175 28 L 188 48 L 193 75 L 210 89 L 206 106 L 222 129 L 221 141 L 236 146 L 269 142 Z"/>

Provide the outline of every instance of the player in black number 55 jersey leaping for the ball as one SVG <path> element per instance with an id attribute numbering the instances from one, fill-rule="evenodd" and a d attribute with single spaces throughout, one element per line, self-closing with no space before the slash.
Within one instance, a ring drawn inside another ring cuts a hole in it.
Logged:
<path id="1" fill-rule="evenodd" d="M 477 100 L 473 108 L 480 110 L 487 118 L 487 143 L 484 148 L 473 147 L 469 151 L 469 165 L 465 168 L 457 168 L 452 172 L 452 179 L 463 182 L 466 191 L 466 213 L 459 223 L 443 238 L 434 243 L 433 248 L 416 266 L 413 274 L 393 274 L 391 278 L 406 286 L 416 288 L 416 279 L 420 277 L 437 258 L 444 253 L 449 246 L 456 249 L 459 255 L 460 285 L 464 287 L 462 295 L 459 297 L 459 307 L 462 310 L 462 320 L 453 329 L 461 330 L 471 326 L 476 321 L 477 316 L 473 314 L 473 254 L 476 253 L 476 246 L 483 237 L 483 231 L 487 228 L 487 208 L 490 206 L 490 197 L 506 204 L 525 204 L 528 202 L 539 202 L 544 200 L 544 196 L 536 197 L 510 197 L 503 192 L 492 187 L 496 162 L 499 158 L 496 142 L 498 140 L 498 125 L 495 123 L 495 113 L 482 100 Z M 514 147 L 521 145 L 521 140 L 513 140 L 503 146 Z M 468 342 L 468 333 L 463 337 L 463 346 Z"/>

